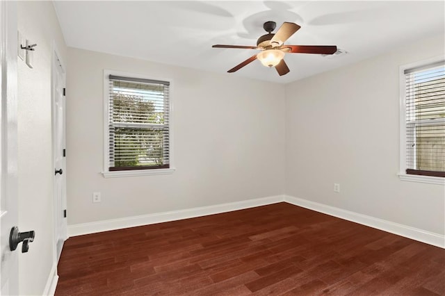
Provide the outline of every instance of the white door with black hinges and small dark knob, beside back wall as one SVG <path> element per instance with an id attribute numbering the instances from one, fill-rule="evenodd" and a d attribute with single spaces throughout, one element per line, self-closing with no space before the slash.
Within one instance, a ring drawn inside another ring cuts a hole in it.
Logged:
<path id="1" fill-rule="evenodd" d="M 54 153 L 54 231 L 56 260 L 67 239 L 65 170 L 65 72 L 54 51 L 53 58 L 53 153 Z"/>

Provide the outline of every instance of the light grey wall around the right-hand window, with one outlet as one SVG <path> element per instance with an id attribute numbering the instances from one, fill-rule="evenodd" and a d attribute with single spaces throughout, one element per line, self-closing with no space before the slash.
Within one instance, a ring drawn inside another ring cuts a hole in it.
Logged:
<path id="1" fill-rule="evenodd" d="M 438 55 L 443 35 L 286 85 L 286 195 L 443 236 L 444 186 L 396 175 L 399 66 Z"/>

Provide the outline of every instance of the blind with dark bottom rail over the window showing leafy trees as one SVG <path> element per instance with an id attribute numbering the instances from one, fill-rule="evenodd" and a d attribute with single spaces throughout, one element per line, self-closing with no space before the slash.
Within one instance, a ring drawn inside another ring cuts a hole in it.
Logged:
<path id="1" fill-rule="evenodd" d="M 170 83 L 109 76 L 110 171 L 170 167 Z"/>

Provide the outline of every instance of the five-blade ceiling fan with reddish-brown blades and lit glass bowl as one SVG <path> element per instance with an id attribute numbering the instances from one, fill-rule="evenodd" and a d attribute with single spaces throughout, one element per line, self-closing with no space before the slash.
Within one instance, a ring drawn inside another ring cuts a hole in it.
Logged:
<path id="1" fill-rule="evenodd" d="M 212 47 L 261 50 L 259 54 L 255 54 L 243 61 L 243 63 L 229 69 L 229 71 L 227 71 L 229 73 L 238 71 L 258 58 L 266 67 L 275 67 L 280 76 L 290 71 L 283 59 L 285 54 L 334 54 L 337 51 L 337 47 L 331 45 L 284 45 L 284 42 L 286 42 L 293 33 L 296 33 L 300 26 L 298 26 L 298 24 L 284 22 L 277 33 L 272 33 L 276 26 L 277 24 L 275 22 L 269 21 L 264 23 L 263 28 L 268 33 L 258 38 L 256 47 L 223 44 L 215 44 Z"/>

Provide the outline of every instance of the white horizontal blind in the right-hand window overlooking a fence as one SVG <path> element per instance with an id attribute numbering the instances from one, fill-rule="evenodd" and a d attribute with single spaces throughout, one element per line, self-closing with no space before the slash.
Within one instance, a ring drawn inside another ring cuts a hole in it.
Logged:
<path id="1" fill-rule="evenodd" d="M 406 173 L 445 177 L 445 64 L 405 70 Z"/>

